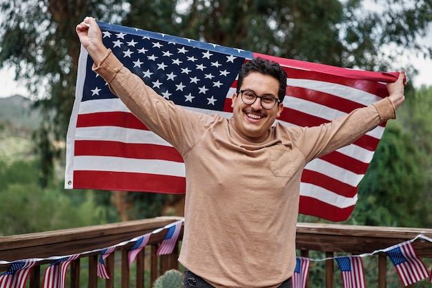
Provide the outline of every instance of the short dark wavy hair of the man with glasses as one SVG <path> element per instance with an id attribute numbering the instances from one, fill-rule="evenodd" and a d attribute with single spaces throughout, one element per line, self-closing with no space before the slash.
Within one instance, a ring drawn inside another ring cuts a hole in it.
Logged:
<path id="1" fill-rule="evenodd" d="M 279 97 L 280 102 L 284 101 L 286 93 L 286 73 L 277 62 L 262 57 L 254 58 L 242 65 L 239 70 L 239 78 L 237 79 L 237 94 L 240 92 L 244 77 L 251 72 L 262 73 L 277 79 L 279 81 L 279 91 L 277 96 Z"/>

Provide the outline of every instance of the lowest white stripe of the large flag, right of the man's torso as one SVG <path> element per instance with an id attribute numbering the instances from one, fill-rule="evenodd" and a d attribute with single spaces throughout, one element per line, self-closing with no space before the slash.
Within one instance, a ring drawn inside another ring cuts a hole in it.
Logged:
<path id="1" fill-rule="evenodd" d="M 300 195 L 315 198 L 326 204 L 331 204 L 334 207 L 344 209 L 354 206 L 357 202 L 357 194 L 353 198 L 348 198 L 338 195 L 333 191 L 328 191 L 321 186 L 316 186 L 308 183 L 300 183 Z"/>

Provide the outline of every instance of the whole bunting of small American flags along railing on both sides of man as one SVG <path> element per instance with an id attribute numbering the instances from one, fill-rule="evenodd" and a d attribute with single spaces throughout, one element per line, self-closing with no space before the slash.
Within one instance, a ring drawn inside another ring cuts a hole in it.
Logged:
<path id="1" fill-rule="evenodd" d="M 26 286 L 26 281 L 30 275 L 31 269 L 35 267 L 37 262 L 47 260 L 52 262 L 44 273 L 43 288 L 64 288 L 66 282 L 66 271 L 68 270 L 70 263 L 81 256 L 97 252 L 101 253 L 99 256 L 99 262 L 97 264 L 97 276 L 100 278 L 109 279 L 110 276 L 108 275 L 108 271 L 106 271 L 105 259 L 108 258 L 110 253 L 115 251 L 117 247 L 125 246 L 126 244 L 132 242 L 134 243 L 133 247 L 128 251 L 128 263 L 130 266 L 137 257 L 137 254 L 142 249 L 144 249 L 144 247 L 146 247 L 152 234 L 157 234 L 165 229 L 168 229 L 166 236 L 159 245 L 156 253 L 157 255 L 173 253 L 173 249 L 177 243 L 183 222 L 184 219 L 178 220 L 176 222 L 167 224 L 164 227 L 158 228 L 153 232 L 132 238 L 128 241 L 120 242 L 119 244 L 115 244 L 104 249 L 95 249 L 69 256 L 31 258 L 12 262 L 0 260 L 0 265 L 10 264 L 8 271 L 0 275 L 0 288 L 24 288 Z M 431 238 L 424 236 L 423 233 L 420 233 L 411 240 L 395 244 L 386 249 L 375 250 L 372 253 L 364 253 L 356 256 L 337 256 L 322 259 L 297 257 L 295 271 L 292 278 L 292 287 L 306 287 L 311 261 L 335 260 L 342 273 L 342 282 L 344 288 L 366 288 L 362 258 L 366 256 L 373 256 L 380 252 L 384 252 L 387 256 L 389 256 L 391 262 L 395 266 L 400 280 L 402 281 L 402 284 L 405 287 L 427 277 L 429 277 L 429 282 L 432 282 L 432 271 L 431 273 L 427 271 L 426 265 L 424 265 L 422 260 L 418 258 L 418 255 L 412 245 L 412 243 L 418 239 L 421 239 L 422 241 L 426 240 L 432 243 Z"/>

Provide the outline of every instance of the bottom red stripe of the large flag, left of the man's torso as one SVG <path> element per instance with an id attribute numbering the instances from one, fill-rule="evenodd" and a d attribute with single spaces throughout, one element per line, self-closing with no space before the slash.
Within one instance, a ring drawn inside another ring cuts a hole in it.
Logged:
<path id="1" fill-rule="evenodd" d="M 74 189 L 101 189 L 115 191 L 143 191 L 154 193 L 182 194 L 186 191 L 184 177 L 107 172 L 107 171 L 74 171 Z"/>

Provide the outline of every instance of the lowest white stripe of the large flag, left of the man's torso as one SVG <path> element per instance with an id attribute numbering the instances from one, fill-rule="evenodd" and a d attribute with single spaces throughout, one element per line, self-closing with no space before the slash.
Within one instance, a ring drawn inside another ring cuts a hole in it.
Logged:
<path id="1" fill-rule="evenodd" d="M 75 171 L 149 173 L 185 177 L 184 163 L 107 156 L 75 156 Z"/>

